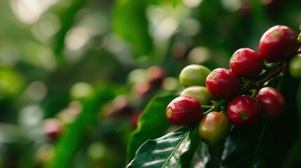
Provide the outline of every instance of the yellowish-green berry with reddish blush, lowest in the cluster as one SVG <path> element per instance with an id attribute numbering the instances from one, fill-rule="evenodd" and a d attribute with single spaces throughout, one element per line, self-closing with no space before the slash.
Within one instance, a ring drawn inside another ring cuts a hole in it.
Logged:
<path id="1" fill-rule="evenodd" d="M 230 123 L 224 113 L 210 112 L 201 119 L 198 133 L 208 146 L 215 146 L 225 141 L 230 130 Z"/>

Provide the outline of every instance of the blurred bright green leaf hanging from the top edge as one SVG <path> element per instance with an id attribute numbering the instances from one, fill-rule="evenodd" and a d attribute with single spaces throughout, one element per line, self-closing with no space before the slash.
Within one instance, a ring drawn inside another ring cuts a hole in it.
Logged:
<path id="1" fill-rule="evenodd" d="M 136 57 L 149 55 L 153 47 L 145 10 L 145 1 L 117 0 L 112 11 L 114 32 L 131 43 Z"/>

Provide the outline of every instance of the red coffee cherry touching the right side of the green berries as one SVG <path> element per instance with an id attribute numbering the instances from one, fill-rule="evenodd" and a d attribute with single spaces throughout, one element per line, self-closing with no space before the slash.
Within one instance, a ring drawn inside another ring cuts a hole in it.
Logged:
<path id="1" fill-rule="evenodd" d="M 206 87 L 215 99 L 230 99 L 241 88 L 239 76 L 227 69 L 214 69 L 206 78 Z"/>

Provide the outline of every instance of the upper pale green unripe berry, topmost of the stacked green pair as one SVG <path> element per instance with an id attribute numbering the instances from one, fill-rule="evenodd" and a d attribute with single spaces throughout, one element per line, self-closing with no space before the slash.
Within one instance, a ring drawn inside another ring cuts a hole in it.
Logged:
<path id="1" fill-rule="evenodd" d="M 180 72 L 180 83 L 184 87 L 192 85 L 206 85 L 206 77 L 210 73 L 210 69 L 199 64 L 190 64 Z"/>

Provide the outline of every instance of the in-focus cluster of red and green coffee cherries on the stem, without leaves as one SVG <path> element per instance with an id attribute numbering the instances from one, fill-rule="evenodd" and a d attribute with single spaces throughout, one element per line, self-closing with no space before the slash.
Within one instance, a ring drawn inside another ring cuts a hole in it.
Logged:
<path id="1" fill-rule="evenodd" d="M 201 140 L 215 146 L 225 141 L 232 126 L 253 127 L 262 117 L 279 118 L 286 101 L 267 83 L 285 73 L 299 47 L 292 29 L 276 25 L 262 35 L 258 52 L 236 50 L 229 60 L 230 69 L 186 66 L 179 76 L 185 89 L 168 104 L 167 120 L 178 126 L 198 125 Z"/>

